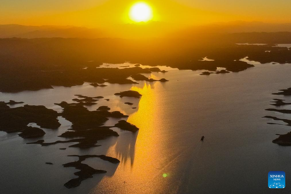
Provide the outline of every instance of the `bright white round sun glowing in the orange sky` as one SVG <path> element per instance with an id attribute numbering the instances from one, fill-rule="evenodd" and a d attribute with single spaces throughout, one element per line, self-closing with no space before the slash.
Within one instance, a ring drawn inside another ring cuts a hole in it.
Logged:
<path id="1" fill-rule="evenodd" d="M 147 22 L 153 17 L 152 8 L 144 2 L 135 3 L 129 11 L 129 18 L 134 22 Z"/>

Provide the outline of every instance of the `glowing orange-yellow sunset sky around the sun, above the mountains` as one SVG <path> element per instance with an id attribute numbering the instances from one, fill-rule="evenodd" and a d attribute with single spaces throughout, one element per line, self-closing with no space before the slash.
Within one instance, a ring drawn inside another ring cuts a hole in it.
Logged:
<path id="1" fill-rule="evenodd" d="M 98 27 L 132 23 L 133 0 L 2 0 L 0 24 L 75 25 Z M 206 24 L 234 20 L 291 22 L 290 0 L 146 0 L 153 20 Z"/>

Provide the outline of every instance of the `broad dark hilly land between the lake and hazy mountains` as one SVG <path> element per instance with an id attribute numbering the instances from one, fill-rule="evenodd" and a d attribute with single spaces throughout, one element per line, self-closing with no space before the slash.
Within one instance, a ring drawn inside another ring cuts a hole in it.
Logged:
<path id="1" fill-rule="evenodd" d="M 243 35 L 246 37 L 242 38 Z M 259 35 L 264 36 L 264 34 Z M 279 35 L 284 33 L 277 33 L 272 40 L 265 38 L 257 41 L 282 42 Z M 253 67 L 254 65 L 240 61 L 246 56 L 249 60 L 260 63 L 291 63 L 291 51 L 287 47 L 237 45 L 235 43 L 243 40 L 252 42 L 248 37 L 258 38 L 258 34 L 246 33 L 234 36 L 237 38 L 231 41 L 211 39 L 207 40 L 207 43 L 202 40 L 157 39 L 152 42 L 147 41 L 146 47 L 143 46 L 145 40 L 142 39 L 0 39 L 0 53 L 5 53 L 0 54 L 0 91 L 19 92 L 52 89 L 53 86 L 71 87 L 82 85 L 84 82 L 90 82 L 96 87 L 104 86 L 105 82 L 137 84 L 128 78 L 133 76 L 139 80 L 154 81 L 139 74 L 166 72 L 157 67 L 141 68 L 137 65 L 123 69 L 100 68 L 103 63 L 131 61 L 133 64 L 166 65 L 180 70 L 217 71 L 217 67 L 226 69 L 216 73 L 239 72 Z M 123 45 L 122 48 L 120 45 Z M 132 49 L 133 47 L 135 49 Z M 271 52 L 265 52 L 266 50 Z M 214 61 L 201 61 L 200 59 L 205 56 Z M 14 76 L 15 74 L 17 76 Z"/>

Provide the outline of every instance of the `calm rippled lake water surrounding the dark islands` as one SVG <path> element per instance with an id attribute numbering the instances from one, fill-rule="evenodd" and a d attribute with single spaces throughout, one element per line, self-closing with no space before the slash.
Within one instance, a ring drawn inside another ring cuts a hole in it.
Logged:
<path id="1" fill-rule="evenodd" d="M 247 59 L 243 59 L 247 60 Z M 30 105 L 54 105 L 72 102 L 73 95 L 102 95 L 89 106 L 109 106 L 112 111 L 129 115 L 128 122 L 140 130 L 136 133 L 114 128 L 120 136 L 100 140 L 102 145 L 91 149 L 68 148 L 74 143 L 50 146 L 25 144 L 17 134 L 0 132 L 1 193 L 266 193 L 269 171 L 291 174 L 291 147 L 281 147 L 272 140 L 291 127 L 269 125 L 276 122 L 266 115 L 290 118 L 288 114 L 265 111 L 278 89 L 290 88 L 291 64 L 255 64 L 238 73 L 199 75 L 203 71 L 177 70 L 144 74 L 154 79 L 166 78 L 166 83 L 106 84 L 107 87 L 55 87 L 39 91 L 0 93 L 1 101 L 10 99 Z M 106 64 L 107 65 L 107 64 Z M 129 64 L 119 64 L 126 66 Z M 139 91 L 141 99 L 119 98 L 113 94 L 125 90 Z M 129 106 L 124 102 L 132 102 Z M 23 106 L 23 104 L 16 105 Z M 15 107 L 15 106 L 13 106 Z M 132 107 L 137 107 L 132 109 Z M 285 109 L 291 107 L 285 106 Z M 64 140 L 56 137 L 70 128 L 70 122 L 59 117 L 58 130 L 44 129 L 40 139 L 46 142 Z M 115 124 L 110 119 L 105 125 Z M 282 122 L 277 122 L 282 123 Z M 31 123 L 31 125 L 35 125 Z M 200 140 L 205 136 L 204 142 Z M 59 148 L 67 147 L 66 150 Z M 67 189 L 65 182 L 76 177 L 74 168 L 62 164 L 77 160 L 70 154 L 106 154 L 118 158 L 119 164 L 101 159 L 86 159 L 83 163 L 107 170 L 93 175 L 77 188 Z M 46 165 L 52 162 L 54 165 Z M 163 177 L 163 173 L 167 177 Z M 288 178 L 287 178 L 288 180 Z M 125 181 L 125 183 L 124 183 Z M 288 184 L 288 181 L 287 181 Z M 285 192 L 291 192 L 286 186 Z"/>

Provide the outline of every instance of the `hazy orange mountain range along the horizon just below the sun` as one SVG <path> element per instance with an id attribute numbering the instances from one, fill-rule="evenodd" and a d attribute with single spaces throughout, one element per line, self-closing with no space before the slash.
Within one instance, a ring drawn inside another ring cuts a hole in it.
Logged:
<path id="1" fill-rule="evenodd" d="M 243 32 L 291 32 L 291 23 L 217 22 L 203 26 L 181 26 L 165 22 L 116 24 L 104 28 L 77 26 L 0 25 L 0 38 L 197 38 L 205 34 Z"/>

